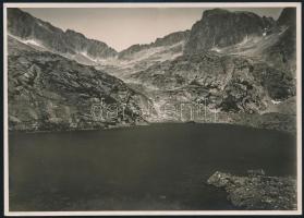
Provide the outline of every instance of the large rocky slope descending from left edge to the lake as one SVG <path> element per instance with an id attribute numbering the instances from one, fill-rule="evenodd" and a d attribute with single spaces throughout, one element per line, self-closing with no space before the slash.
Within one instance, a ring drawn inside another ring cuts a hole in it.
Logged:
<path id="1" fill-rule="evenodd" d="M 9 37 L 9 129 L 56 131 L 144 123 L 148 99 L 122 81 Z"/>

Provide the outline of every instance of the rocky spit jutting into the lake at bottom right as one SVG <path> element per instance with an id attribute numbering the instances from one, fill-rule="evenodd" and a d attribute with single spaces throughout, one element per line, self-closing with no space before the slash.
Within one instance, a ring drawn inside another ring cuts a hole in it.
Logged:
<path id="1" fill-rule="evenodd" d="M 290 177 L 266 177 L 262 172 L 236 177 L 217 171 L 207 183 L 223 187 L 228 199 L 243 209 L 296 209 L 296 180 Z"/>

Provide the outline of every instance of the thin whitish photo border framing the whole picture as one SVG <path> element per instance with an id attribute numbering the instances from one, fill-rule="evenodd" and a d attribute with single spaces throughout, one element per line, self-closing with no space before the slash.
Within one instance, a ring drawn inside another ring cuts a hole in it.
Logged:
<path id="1" fill-rule="evenodd" d="M 296 8 L 296 210 L 96 210 L 96 211 L 10 211 L 8 140 L 8 8 Z M 4 3 L 3 4 L 3 137 L 4 137 L 4 215 L 5 216 L 139 216 L 139 215 L 302 215 L 302 4 L 301 2 L 193 2 L 193 3 Z"/>

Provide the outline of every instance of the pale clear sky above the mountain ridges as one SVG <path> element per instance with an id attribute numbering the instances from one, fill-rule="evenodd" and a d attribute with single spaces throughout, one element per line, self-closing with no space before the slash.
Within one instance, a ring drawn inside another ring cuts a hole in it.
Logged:
<path id="1" fill-rule="evenodd" d="M 178 31 L 191 29 L 206 8 L 26 8 L 32 15 L 70 28 L 121 51 L 134 44 L 149 44 Z M 238 8 L 278 19 L 281 8 Z"/>

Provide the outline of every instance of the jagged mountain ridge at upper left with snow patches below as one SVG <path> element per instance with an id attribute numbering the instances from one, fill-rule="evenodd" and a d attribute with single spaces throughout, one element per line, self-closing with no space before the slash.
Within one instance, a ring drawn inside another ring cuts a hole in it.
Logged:
<path id="1" fill-rule="evenodd" d="M 106 59 L 117 55 L 114 49 L 102 41 L 88 39 L 70 29 L 63 32 L 20 9 L 8 9 L 8 32 L 21 40 L 32 41 L 63 55 L 83 53 L 92 59 Z"/>

